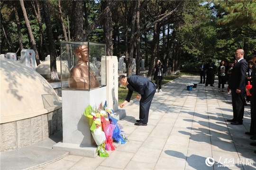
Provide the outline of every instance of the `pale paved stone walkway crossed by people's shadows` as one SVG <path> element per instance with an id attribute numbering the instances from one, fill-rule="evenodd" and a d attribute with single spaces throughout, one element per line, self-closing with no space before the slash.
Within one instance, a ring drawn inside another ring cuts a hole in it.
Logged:
<path id="1" fill-rule="evenodd" d="M 23 157 L 17 154 L 24 148 L 1 153 L 0 169 L 255 170 L 256 147 L 249 145 L 254 141 L 245 135 L 250 127 L 250 104 L 244 124 L 231 125 L 226 121 L 233 115 L 231 94 L 218 92 L 218 80 L 215 87 L 198 84 L 187 91 L 186 83 L 198 80 L 198 76 L 181 76 L 162 87 L 162 93 L 155 93 L 147 126 L 134 126 L 137 100 L 123 108 L 127 116 L 119 123 L 129 141 L 116 144 L 115 151 L 108 151 L 108 158 L 69 155 L 51 149 L 57 139 L 47 139 L 25 147 L 33 149 Z M 30 164 L 26 167 L 25 162 Z"/>

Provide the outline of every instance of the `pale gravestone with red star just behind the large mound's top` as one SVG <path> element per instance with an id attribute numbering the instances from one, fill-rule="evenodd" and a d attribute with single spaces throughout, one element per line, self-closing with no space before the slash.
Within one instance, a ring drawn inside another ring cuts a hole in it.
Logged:
<path id="1" fill-rule="evenodd" d="M 20 63 L 33 70 L 36 70 L 37 64 L 35 51 L 31 49 L 22 49 L 20 54 Z"/>

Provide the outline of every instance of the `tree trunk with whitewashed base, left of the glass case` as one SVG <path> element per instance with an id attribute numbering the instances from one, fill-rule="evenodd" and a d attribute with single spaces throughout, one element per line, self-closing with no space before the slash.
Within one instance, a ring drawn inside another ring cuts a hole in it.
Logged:
<path id="1" fill-rule="evenodd" d="M 47 1 L 43 0 L 42 5 L 43 5 L 43 10 L 44 10 L 46 30 L 47 30 L 47 34 L 48 34 L 49 47 L 50 47 L 49 49 L 50 49 L 50 56 L 51 56 L 51 58 L 50 58 L 51 79 L 52 80 L 59 80 L 57 67 L 56 67 L 57 53 L 56 53 L 56 49 L 55 49 L 55 42 L 54 42 L 54 37 L 53 37 L 53 32 L 52 32 L 51 17 L 50 17 L 50 12 L 49 12 L 49 9 L 48 9 Z"/>

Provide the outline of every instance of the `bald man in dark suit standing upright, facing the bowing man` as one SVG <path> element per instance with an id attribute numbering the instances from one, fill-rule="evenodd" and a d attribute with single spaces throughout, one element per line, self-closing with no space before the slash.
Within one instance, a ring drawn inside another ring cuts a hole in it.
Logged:
<path id="1" fill-rule="evenodd" d="M 232 125 L 242 125 L 245 110 L 245 88 L 248 64 L 244 59 L 245 51 L 238 49 L 235 53 L 237 63 L 229 77 L 229 89 L 232 95 L 233 119 L 228 119 Z"/>

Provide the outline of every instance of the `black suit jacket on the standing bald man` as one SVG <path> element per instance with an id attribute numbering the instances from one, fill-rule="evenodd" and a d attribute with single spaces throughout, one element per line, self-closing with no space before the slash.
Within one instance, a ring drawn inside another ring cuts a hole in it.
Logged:
<path id="1" fill-rule="evenodd" d="M 239 62 L 235 64 L 235 66 L 232 69 L 232 73 L 229 77 L 230 89 L 239 89 L 242 92 L 245 92 L 247 69 L 248 64 L 245 59 L 241 59 Z"/>

